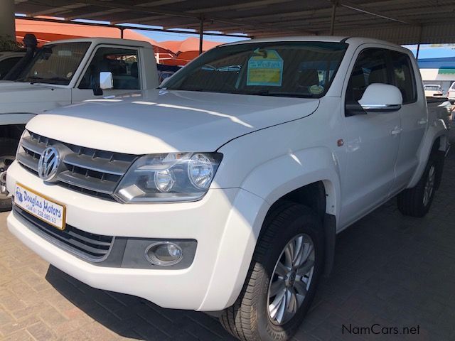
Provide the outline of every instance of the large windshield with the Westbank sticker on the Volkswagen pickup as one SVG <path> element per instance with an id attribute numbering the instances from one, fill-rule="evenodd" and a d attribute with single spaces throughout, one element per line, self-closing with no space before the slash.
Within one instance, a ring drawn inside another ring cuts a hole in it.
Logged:
<path id="1" fill-rule="evenodd" d="M 173 75 L 163 88 L 229 94 L 322 97 L 346 43 L 267 42 L 214 48 Z"/>

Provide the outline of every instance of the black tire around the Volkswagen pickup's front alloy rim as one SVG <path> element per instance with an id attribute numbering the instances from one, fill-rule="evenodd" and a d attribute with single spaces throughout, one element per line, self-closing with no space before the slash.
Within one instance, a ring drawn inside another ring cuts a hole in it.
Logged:
<path id="1" fill-rule="evenodd" d="M 245 284 L 237 301 L 223 310 L 220 322 L 244 341 L 288 340 L 296 332 L 311 306 L 323 273 L 324 242 L 321 220 L 308 207 L 286 202 L 264 222 Z M 304 300 L 295 315 L 282 325 L 269 315 L 269 283 L 282 251 L 294 237 L 306 234 L 314 244 L 314 270 Z"/>

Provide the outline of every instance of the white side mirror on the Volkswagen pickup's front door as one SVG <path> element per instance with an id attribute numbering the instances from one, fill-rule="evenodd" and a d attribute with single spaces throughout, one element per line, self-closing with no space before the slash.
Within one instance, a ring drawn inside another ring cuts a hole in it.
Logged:
<path id="1" fill-rule="evenodd" d="M 358 104 L 365 112 L 396 112 L 401 109 L 403 97 L 394 85 L 373 83 L 368 85 Z"/>

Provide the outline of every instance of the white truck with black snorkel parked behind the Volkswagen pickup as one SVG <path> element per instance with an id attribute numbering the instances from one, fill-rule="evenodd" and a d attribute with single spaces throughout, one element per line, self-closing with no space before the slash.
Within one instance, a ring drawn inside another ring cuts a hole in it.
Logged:
<path id="1" fill-rule="evenodd" d="M 6 170 L 29 119 L 87 99 L 157 86 L 154 50 L 149 43 L 81 38 L 44 45 L 18 80 L 0 82 L 0 212 L 11 207 Z"/>

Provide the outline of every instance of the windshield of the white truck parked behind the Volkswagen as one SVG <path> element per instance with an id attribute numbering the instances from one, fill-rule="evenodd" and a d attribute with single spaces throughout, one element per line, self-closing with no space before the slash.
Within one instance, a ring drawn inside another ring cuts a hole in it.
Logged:
<path id="1" fill-rule="evenodd" d="M 89 42 L 45 45 L 23 70 L 18 82 L 69 85 L 89 46 Z"/>

